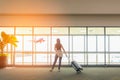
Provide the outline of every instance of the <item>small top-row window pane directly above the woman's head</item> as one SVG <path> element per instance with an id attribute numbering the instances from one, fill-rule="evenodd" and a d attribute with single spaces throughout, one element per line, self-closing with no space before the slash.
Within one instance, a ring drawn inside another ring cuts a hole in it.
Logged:
<path id="1" fill-rule="evenodd" d="M 52 28 L 52 34 L 68 34 L 68 28 L 67 27 Z"/>

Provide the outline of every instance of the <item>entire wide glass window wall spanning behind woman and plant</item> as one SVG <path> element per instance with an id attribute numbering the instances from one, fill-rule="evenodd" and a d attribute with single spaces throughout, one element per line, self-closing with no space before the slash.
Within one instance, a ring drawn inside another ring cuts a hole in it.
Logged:
<path id="1" fill-rule="evenodd" d="M 70 57 L 63 55 L 63 65 L 72 60 L 87 66 L 120 65 L 120 27 L 0 27 L 1 31 L 19 40 L 16 48 L 5 47 L 9 65 L 52 65 L 57 38 Z"/>

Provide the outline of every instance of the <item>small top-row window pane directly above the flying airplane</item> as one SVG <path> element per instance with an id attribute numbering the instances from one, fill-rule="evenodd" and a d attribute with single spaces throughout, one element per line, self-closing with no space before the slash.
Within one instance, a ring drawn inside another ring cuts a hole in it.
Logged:
<path id="1" fill-rule="evenodd" d="M 34 34 L 50 34 L 50 28 L 48 28 L 48 27 L 35 27 Z"/>

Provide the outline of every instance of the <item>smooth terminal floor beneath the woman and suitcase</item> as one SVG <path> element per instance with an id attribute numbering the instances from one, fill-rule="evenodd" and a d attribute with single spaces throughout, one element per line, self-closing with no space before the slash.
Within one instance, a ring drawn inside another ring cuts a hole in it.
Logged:
<path id="1" fill-rule="evenodd" d="M 0 69 L 1 80 L 120 80 L 119 67 L 83 67 L 77 74 L 71 67 L 7 67 Z"/>

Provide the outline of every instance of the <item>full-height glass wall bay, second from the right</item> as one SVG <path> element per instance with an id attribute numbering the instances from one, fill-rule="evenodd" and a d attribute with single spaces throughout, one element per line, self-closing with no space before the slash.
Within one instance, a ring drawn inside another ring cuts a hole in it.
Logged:
<path id="1" fill-rule="evenodd" d="M 88 27 L 88 65 L 104 64 L 104 27 Z"/>

